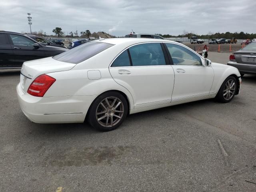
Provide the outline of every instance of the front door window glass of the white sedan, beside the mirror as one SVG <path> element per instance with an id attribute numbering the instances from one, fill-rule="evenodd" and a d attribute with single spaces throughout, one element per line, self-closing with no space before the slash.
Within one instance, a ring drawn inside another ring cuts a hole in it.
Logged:
<path id="1" fill-rule="evenodd" d="M 180 45 L 166 43 L 174 65 L 202 65 L 201 58 Z"/>

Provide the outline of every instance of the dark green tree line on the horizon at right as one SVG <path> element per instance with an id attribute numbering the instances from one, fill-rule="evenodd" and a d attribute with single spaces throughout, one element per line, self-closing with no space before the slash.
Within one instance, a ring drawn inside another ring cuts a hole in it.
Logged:
<path id="1" fill-rule="evenodd" d="M 157 34 L 157 35 L 160 35 L 164 38 L 188 37 L 189 39 L 193 36 L 197 36 L 200 39 L 220 39 L 220 38 L 226 38 L 226 39 L 232 39 L 232 38 L 236 38 L 236 39 L 254 39 L 254 38 L 256 38 L 256 33 L 250 34 L 250 33 L 244 33 L 244 32 L 240 32 L 240 33 L 238 33 L 238 32 L 234 32 L 234 33 L 231 33 L 231 32 L 226 32 L 226 33 L 208 32 L 208 34 L 198 35 L 198 34 L 195 34 L 193 32 L 189 33 L 189 32 L 183 31 L 183 34 L 181 34 L 181 35 L 169 35 L 169 34 Z"/>

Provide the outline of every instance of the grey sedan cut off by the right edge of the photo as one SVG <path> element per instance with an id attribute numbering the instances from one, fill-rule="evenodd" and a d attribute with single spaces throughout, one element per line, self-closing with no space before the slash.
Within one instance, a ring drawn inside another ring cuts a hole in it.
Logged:
<path id="1" fill-rule="evenodd" d="M 238 68 L 241 76 L 256 74 L 256 42 L 252 42 L 230 55 L 228 65 Z"/>

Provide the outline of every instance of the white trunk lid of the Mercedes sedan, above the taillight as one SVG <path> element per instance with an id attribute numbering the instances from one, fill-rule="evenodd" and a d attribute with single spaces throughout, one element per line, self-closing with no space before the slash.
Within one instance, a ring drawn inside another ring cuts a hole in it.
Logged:
<path id="1" fill-rule="evenodd" d="M 20 70 L 20 86 L 27 92 L 30 84 L 38 76 L 51 72 L 67 71 L 76 64 L 61 62 L 52 57 L 24 62 Z"/>

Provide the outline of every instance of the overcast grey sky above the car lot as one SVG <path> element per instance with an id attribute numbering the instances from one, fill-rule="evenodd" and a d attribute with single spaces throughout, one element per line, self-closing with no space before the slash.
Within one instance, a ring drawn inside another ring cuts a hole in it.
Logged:
<path id="1" fill-rule="evenodd" d="M 54 34 L 89 29 L 124 36 L 136 33 L 256 33 L 256 0 L 0 0 L 0 30 Z"/>

